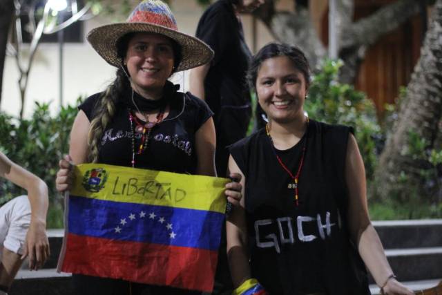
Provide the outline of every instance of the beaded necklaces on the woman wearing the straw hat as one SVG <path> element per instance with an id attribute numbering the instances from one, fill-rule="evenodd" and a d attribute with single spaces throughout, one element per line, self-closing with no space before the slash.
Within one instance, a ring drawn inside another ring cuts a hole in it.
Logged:
<path id="1" fill-rule="evenodd" d="M 132 168 L 135 168 L 135 153 L 137 155 L 140 155 L 146 150 L 149 135 L 151 135 L 151 131 L 153 127 L 155 127 L 156 124 L 162 122 L 164 117 L 164 109 L 160 109 L 160 112 L 157 114 L 156 122 L 149 122 L 149 116 L 142 114 L 143 117 L 146 119 L 146 123 L 140 122 L 138 120 L 135 113 L 133 114 L 133 111 L 129 109 L 129 122 L 131 122 L 131 139 L 132 139 Z M 135 127 L 133 126 L 133 122 L 135 122 Z M 138 147 L 138 151 L 135 151 L 135 133 L 141 134 L 141 142 L 140 146 Z"/>

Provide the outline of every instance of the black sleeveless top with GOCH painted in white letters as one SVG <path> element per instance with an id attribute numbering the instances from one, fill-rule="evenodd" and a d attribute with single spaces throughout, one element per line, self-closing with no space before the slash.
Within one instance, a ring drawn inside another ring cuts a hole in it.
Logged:
<path id="1" fill-rule="evenodd" d="M 310 120 L 291 149 L 276 151 L 299 177 L 299 205 L 265 129 L 230 146 L 245 175 L 251 273 L 270 294 L 369 294 L 367 272 L 347 231 L 346 126 Z"/>

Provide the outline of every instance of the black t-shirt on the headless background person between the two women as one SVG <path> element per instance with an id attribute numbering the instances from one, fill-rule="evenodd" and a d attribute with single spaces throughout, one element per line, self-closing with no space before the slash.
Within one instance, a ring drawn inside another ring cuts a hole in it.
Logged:
<path id="1" fill-rule="evenodd" d="M 207 104 L 216 115 L 220 106 L 249 105 L 245 75 L 251 52 L 229 0 L 218 0 L 207 8 L 198 22 L 196 37 L 215 52 L 204 80 Z"/>

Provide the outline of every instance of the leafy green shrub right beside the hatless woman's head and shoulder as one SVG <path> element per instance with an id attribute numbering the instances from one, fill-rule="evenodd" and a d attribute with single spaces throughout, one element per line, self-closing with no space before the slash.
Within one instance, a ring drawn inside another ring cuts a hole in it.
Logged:
<path id="1" fill-rule="evenodd" d="M 377 162 L 377 145 L 382 137 L 376 108 L 365 93 L 338 82 L 342 61 L 325 60 L 313 76 L 305 111 L 314 120 L 352 126 L 363 156 L 367 178 L 371 179 Z"/>

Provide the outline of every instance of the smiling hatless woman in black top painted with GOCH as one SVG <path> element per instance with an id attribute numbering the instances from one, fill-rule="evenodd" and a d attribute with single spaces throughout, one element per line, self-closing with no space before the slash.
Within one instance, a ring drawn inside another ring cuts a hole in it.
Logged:
<path id="1" fill-rule="evenodd" d="M 269 124 L 230 147 L 229 171 L 244 187 L 227 221 L 237 294 L 259 287 L 250 278 L 272 295 L 369 294 L 361 258 L 383 294 L 413 294 L 393 275 L 369 220 L 352 129 L 305 116 L 302 51 L 268 44 L 248 77 Z"/>

